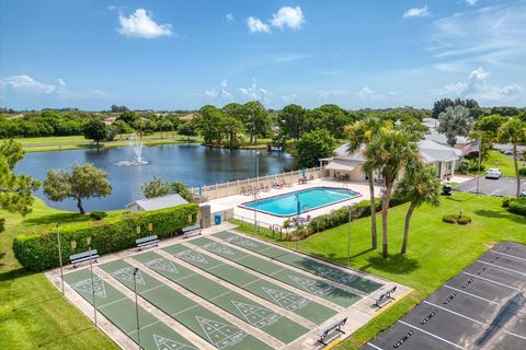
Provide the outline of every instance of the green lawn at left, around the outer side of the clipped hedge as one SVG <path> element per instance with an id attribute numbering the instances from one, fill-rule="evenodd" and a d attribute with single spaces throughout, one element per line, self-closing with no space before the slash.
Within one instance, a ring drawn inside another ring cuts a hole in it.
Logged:
<path id="1" fill-rule="evenodd" d="M 89 217 L 55 210 L 36 199 L 26 218 L 5 212 L 0 218 L 7 219 L 0 232 L 0 349 L 118 349 L 44 273 L 25 273 L 11 249 L 20 233 Z"/>

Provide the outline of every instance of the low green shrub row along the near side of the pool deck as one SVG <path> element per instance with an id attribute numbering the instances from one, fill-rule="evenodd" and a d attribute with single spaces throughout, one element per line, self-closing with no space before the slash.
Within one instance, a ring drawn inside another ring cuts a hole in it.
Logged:
<path id="1" fill-rule="evenodd" d="M 389 201 L 390 207 L 396 207 L 403 203 L 402 200 L 392 197 Z M 330 214 L 324 214 L 313 218 L 306 228 L 299 228 L 296 231 L 291 232 L 287 237 L 293 238 L 306 238 L 311 234 L 330 230 L 336 226 L 340 226 L 348 222 L 348 207 L 340 208 L 334 210 Z M 376 201 L 376 211 L 381 210 L 381 201 Z M 351 206 L 351 219 L 356 220 L 361 218 L 370 217 L 370 201 L 363 200 L 356 205 Z"/>

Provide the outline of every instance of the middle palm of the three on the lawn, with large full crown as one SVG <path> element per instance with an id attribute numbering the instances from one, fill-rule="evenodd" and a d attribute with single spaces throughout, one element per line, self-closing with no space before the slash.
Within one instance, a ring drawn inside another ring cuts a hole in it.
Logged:
<path id="1" fill-rule="evenodd" d="M 364 168 L 374 168 L 381 173 L 385 180 L 385 190 L 381 199 L 381 255 L 387 258 L 387 214 L 389 200 L 398 175 L 408 165 L 419 161 L 416 143 L 411 142 L 411 135 L 400 130 L 385 130 L 374 138 L 365 149 Z"/>

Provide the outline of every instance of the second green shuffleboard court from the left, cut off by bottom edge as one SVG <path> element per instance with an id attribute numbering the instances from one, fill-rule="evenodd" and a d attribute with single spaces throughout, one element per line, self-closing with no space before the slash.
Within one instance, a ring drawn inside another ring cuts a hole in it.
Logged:
<path id="1" fill-rule="evenodd" d="M 100 266 L 115 280 L 134 289 L 134 266 L 112 261 Z M 272 349 L 265 342 L 238 328 L 206 307 L 171 289 L 153 277 L 138 271 L 138 294 L 218 349 Z M 133 306 L 130 308 L 134 310 Z M 133 319 L 133 318 L 132 318 Z"/>

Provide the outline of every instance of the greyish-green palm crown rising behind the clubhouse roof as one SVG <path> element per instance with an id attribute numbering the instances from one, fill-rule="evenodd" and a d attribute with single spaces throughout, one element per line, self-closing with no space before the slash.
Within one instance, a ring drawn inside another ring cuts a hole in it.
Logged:
<path id="1" fill-rule="evenodd" d="M 438 115 L 438 121 L 436 131 L 446 135 L 447 144 L 450 147 L 457 144 L 457 137 L 468 136 L 473 128 L 473 118 L 469 116 L 469 109 L 461 105 L 447 107 Z"/>

